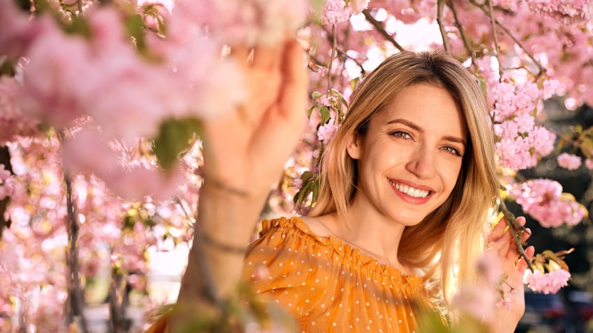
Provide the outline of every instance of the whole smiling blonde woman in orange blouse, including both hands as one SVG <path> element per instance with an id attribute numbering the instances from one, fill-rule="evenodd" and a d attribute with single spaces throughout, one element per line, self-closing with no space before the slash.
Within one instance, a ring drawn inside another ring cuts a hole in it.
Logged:
<path id="1" fill-rule="evenodd" d="M 191 317 L 190 304 L 207 302 L 197 260 L 230 263 L 231 270 L 211 265 L 215 300 L 237 281 L 239 240 L 251 226 L 244 217 L 257 218 L 282 168 L 278 153 L 290 153 L 302 124 L 306 79 L 297 49 L 292 40 L 255 49 L 246 70 L 254 82 L 271 77 L 273 93 L 255 91 L 250 111 L 207 124 L 202 242 L 192 250 L 172 327 Z M 487 117 L 478 84 L 451 56 L 403 52 L 384 61 L 356 89 L 326 148 L 310 217 L 264 221 L 262 237 L 248 248 L 243 280 L 287 309 L 303 332 L 416 330 L 419 311 L 439 300 L 449 304 L 460 281 L 476 280 L 498 189 Z M 216 132 L 221 128 L 235 137 Z M 504 223 L 490 241 L 504 260 L 506 285 L 520 293 L 509 293 L 513 309 L 486 325 L 513 332 L 524 310 L 525 263 L 516 262 Z"/>

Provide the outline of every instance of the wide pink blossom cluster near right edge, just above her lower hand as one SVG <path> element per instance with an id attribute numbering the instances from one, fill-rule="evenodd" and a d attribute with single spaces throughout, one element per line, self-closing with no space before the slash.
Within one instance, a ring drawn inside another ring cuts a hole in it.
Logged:
<path id="1" fill-rule="evenodd" d="M 585 207 L 562 193 L 562 185 L 550 179 L 532 179 L 507 187 L 509 196 L 536 219 L 541 226 L 550 228 L 582 221 Z"/>

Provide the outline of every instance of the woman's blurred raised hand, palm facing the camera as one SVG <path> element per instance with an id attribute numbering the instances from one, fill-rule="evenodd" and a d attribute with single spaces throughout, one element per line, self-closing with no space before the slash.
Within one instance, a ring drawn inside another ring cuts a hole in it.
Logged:
<path id="1" fill-rule="evenodd" d="M 253 61 L 248 61 L 250 51 Z M 204 121 L 204 177 L 248 194 L 267 194 L 306 122 L 303 51 L 288 38 L 253 50 L 235 47 L 231 56 L 243 65 L 248 100 L 230 114 Z"/>

